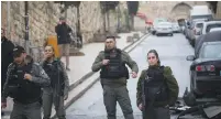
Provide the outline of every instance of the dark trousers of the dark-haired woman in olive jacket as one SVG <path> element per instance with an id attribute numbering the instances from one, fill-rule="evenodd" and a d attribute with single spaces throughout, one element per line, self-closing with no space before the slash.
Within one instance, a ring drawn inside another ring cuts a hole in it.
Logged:
<path id="1" fill-rule="evenodd" d="M 145 119 L 170 119 L 169 108 L 153 107 L 146 109 Z"/>

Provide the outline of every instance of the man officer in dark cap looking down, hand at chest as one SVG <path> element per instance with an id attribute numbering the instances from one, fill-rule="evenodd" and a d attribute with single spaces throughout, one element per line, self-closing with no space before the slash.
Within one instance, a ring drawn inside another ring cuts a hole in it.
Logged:
<path id="1" fill-rule="evenodd" d="M 14 47 L 13 57 L 14 62 L 8 67 L 1 105 L 5 108 L 10 96 L 14 101 L 10 119 L 41 119 L 41 87 L 48 86 L 49 78 L 22 46 Z"/>

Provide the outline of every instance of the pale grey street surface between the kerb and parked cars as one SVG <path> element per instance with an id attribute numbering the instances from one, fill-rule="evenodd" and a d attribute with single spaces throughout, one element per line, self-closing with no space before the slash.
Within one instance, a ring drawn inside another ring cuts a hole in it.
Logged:
<path id="1" fill-rule="evenodd" d="M 187 55 L 194 54 L 194 48 L 181 33 L 174 36 L 150 35 L 131 53 L 131 57 L 136 61 L 141 71 L 147 67 L 146 54 L 155 48 L 164 66 L 170 66 L 179 84 L 179 97 L 185 88 L 189 86 L 189 65 Z M 139 73 L 139 76 L 140 76 Z M 139 78 L 139 77 L 137 77 Z M 128 89 L 130 93 L 135 119 L 141 119 L 141 111 L 136 107 L 136 79 L 129 79 Z M 67 119 L 106 119 L 107 112 L 103 106 L 102 88 L 100 82 L 96 83 L 81 98 L 75 101 L 67 110 Z M 120 106 L 117 106 L 118 119 L 124 119 Z"/>

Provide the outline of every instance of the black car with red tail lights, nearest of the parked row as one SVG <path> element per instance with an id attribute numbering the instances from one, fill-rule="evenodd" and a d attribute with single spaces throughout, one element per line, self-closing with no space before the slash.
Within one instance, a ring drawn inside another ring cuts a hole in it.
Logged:
<path id="1" fill-rule="evenodd" d="M 195 97 L 221 95 L 221 41 L 202 43 L 199 55 L 187 56 L 187 61 L 194 61 L 190 65 L 190 90 Z"/>

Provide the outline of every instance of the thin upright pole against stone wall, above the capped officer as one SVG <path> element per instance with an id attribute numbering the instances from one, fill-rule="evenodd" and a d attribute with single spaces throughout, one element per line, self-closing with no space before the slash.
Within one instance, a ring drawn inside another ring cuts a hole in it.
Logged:
<path id="1" fill-rule="evenodd" d="M 26 53 L 30 54 L 30 39 L 29 39 L 29 2 L 24 1 L 24 23 L 25 23 L 25 50 Z"/>

